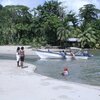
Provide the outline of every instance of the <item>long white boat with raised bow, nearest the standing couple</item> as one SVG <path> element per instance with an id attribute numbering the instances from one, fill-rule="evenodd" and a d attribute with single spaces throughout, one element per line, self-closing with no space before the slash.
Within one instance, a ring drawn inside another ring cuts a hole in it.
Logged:
<path id="1" fill-rule="evenodd" d="M 36 51 L 36 54 L 37 54 L 40 58 L 43 58 L 43 59 L 46 59 L 46 58 L 62 59 L 62 58 L 65 57 L 65 56 L 63 56 L 63 55 L 60 54 L 60 53 L 50 52 L 50 51 L 40 51 L 40 50 L 37 50 L 37 51 Z"/>

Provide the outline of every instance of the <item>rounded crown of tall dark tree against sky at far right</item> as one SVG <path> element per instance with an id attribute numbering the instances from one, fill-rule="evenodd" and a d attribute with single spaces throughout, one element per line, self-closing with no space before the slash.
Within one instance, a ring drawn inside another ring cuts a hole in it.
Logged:
<path id="1" fill-rule="evenodd" d="M 79 9 L 79 16 L 83 21 L 83 26 L 85 27 L 87 23 L 94 21 L 98 18 L 98 14 L 100 13 L 99 9 L 95 8 L 93 4 L 84 5 Z"/>

